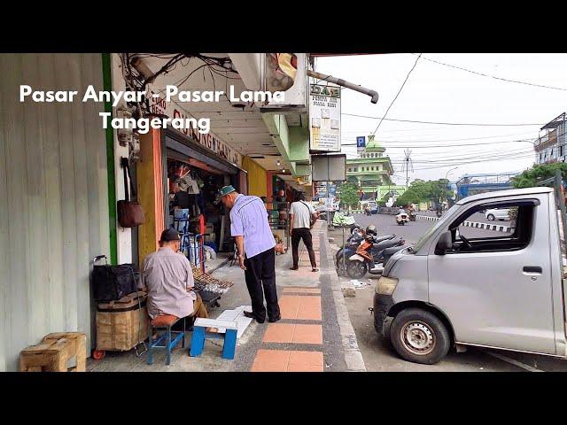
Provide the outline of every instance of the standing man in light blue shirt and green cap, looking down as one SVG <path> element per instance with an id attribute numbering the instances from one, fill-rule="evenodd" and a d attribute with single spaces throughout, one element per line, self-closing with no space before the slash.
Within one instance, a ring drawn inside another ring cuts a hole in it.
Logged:
<path id="1" fill-rule="evenodd" d="M 230 208 L 230 234 L 236 239 L 238 264 L 245 271 L 252 312 L 246 317 L 259 323 L 281 319 L 276 292 L 276 241 L 268 223 L 268 211 L 260 197 L 245 196 L 232 186 L 221 189 L 221 201 Z M 266 307 L 264 307 L 264 297 Z"/>

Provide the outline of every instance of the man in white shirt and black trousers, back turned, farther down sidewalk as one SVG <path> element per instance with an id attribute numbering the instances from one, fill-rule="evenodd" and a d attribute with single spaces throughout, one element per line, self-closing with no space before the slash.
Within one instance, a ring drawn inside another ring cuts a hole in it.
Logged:
<path id="1" fill-rule="evenodd" d="M 290 207 L 291 251 L 293 256 L 293 267 L 290 270 L 299 269 L 299 241 L 303 240 L 309 253 L 311 271 L 319 271 L 315 261 L 315 251 L 313 251 L 313 237 L 311 236 L 312 218 L 316 220 L 318 215 L 313 205 L 305 202 L 303 193 L 296 195 L 295 202 L 291 203 Z"/>

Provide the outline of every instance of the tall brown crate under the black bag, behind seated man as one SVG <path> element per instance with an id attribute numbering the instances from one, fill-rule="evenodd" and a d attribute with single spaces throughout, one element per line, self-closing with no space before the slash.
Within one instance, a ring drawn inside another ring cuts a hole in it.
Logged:
<path id="1" fill-rule="evenodd" d="M 146 294 L 139 291 L 117 301 L 97 305 L 97 350 L 128 351 L 148 337 Z"/>

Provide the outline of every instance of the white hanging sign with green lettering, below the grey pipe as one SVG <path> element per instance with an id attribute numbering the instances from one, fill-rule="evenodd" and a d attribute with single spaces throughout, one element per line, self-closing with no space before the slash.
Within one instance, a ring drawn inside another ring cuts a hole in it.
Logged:
<path id="1" fill-rule="evenodd" d="M 340 87 L 311 84 L 309 150 L 340 152 Z"/>

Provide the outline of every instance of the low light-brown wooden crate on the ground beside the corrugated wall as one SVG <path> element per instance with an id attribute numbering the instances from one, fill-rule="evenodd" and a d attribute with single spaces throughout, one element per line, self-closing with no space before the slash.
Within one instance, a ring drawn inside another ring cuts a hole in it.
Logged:
<path id="1" fill-rule="evenodd" d="M 72 372 L 84 372 L 86 337 L 81 332 L 59 332 L 43 337 L 41 344 L 27 347 L 19 355 L 21 372 L 67 372 L 70 359 L 76 358 Z"/>

